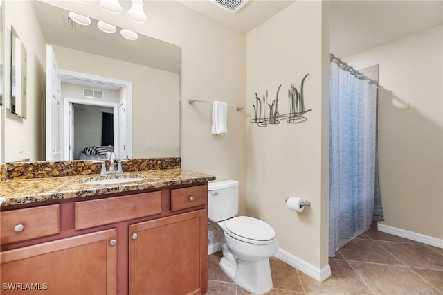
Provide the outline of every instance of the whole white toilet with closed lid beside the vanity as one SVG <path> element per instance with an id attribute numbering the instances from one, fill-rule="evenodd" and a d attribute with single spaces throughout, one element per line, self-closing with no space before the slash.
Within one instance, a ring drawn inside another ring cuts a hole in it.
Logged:
<path id="1" fill-rule="evenodd" d="M 220 267 L 239 286 L 254 294 L 272 289 L 269 257 L 278 251 L 275 231 L 253 217 L 239 216 L 236 180 L 208 184 L 208 217 L 224 232 Z"/>

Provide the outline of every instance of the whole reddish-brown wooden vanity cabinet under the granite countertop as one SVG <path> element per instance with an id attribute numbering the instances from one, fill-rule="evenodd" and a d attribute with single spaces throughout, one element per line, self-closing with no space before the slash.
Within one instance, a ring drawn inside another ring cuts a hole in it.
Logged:
<path id="1" fill-rule="evenodd" d="M 49 214 L 45 230 L 12 247 L 2 240 L 0 293 L 205 294 L 207 191 L 199 184 L 33 207 Z M 29 209 L 0 217 L 9 228 Z M 8 228 L 2 239 L 17 241 Z"/>

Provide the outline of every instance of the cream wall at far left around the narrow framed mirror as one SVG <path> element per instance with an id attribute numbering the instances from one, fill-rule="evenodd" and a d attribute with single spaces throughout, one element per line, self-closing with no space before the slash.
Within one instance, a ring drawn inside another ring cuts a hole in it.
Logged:
<path id="1" fill-rule="evenodd" d="M 44 98 L 41 81 L 44 78 L 44 65 L 41 61 L 46 59 L 45 41 L 30 1 L 6 1 L 4 10 L 8 12 L 5 15 L 6 29 L 4 32 L 6 35 L 5 75 L 8 77 L 10 75 L 10 32 L 11 26 L 13 26 L 26 48 L 28 76 L 26 119 L 10 113 L 10 79 L 6 78 L 3 100 L 6 108 L 2 109 L 5 119 L 5 161 L 21 161 L 23 159 L 39 161 L 42 159 L 40 149 L 37 148 L 42 142 L 40 127 L 42 115 L 39 109 L 41 109 L 40 104 Z M 19 141 L 21 141 L 22 150 L 19 148 Z"/>

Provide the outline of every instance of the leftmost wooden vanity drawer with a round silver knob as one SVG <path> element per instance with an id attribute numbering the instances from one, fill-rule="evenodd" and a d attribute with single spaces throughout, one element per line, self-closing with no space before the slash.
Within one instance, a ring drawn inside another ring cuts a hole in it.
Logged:
<path id="1" fill-rule="evenodd" d="M 58 204 L 1 212 L 1 244 L 60 233 L 59 212 Z"/>

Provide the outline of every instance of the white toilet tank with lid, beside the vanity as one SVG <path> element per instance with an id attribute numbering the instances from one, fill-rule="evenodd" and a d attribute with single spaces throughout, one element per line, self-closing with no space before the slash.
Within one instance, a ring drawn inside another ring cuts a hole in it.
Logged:
<path id="1" fill-rule="evenodd" d="M 208 218 L 213 222 L 227 220 L 238 213 L 237 180 L 208 183 Z"/>

